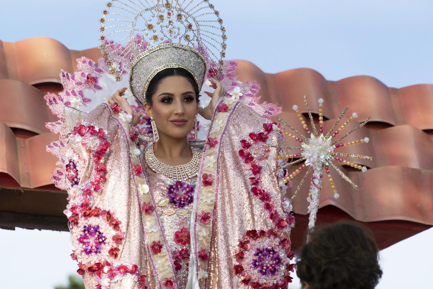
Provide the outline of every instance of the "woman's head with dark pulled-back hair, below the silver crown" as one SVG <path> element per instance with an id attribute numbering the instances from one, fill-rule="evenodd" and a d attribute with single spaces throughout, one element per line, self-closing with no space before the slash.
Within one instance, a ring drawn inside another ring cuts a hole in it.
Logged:
<path id="1" fill-rule="evenodd" d="M 199 88 L 184 68 L 166 68 L 150 81 L 145 101 L 146 113 L 155 120 L 160 137 L 183 138 L 194 127 Z"/>

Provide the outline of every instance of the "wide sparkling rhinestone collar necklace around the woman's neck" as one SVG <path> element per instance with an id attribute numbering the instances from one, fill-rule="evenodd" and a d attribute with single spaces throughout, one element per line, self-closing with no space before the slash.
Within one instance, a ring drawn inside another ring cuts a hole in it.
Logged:
<path id="1" fill-rule="evenodd" d="M 184 165 L 170 166 L 160 162 L 153 151 L 153 144 L 149 148 L 145 149 L 144 157 L 147 165 L 152 171 L 165 175 L 166 177 L 178 180 L 186 181 L 197 176 L 198 168 L 200 166 L 201 153 L 196 149 L 191 149 L 192 159 L 190 162 Z"/>

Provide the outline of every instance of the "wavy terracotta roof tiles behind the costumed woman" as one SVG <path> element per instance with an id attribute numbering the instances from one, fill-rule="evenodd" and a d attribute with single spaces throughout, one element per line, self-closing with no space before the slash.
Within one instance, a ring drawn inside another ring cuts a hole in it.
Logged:
<path id="1" fill-rule="evenodd" d="M 13 177 L 24 192 L 29 192 L 28 195 L 36 194 L 28 188 L 51 183 L 50 173 L 56 162 L 51 154 L 45 152 L 45 145 L 57 136 L 46 133 L 45 122 L 55 118 L 49 113 L 42 96 L 51 88 L 58 92 L 58 84 L 46 82 L 60 83 L 60 69 L 72 72 L 75 59 L 81 56 L 96 60 L 100 52 L 96 48 L 72 51 L 45 37 L 14 43 L 0 41 L 0 155 L 5 156 L 0 159 L 0 172 Z M 332 198 L 329 185 L 325 184 L 321 191 L 321 207 L 336 206 L 359 221 L 407 220 L 433 224 L 433 215 L 429 213 L 433 210 L 433 143 L 432 137 L 423 131 L 433 130 L 432 84 L 388 88 L 369 76 L 327 81 L 319 72 L 309 68 L 268 74 L 251 62 L 238 62 L 236 76 L 239 80 L 257 81 L 261 86 L 259 95 L 262 95 L 262 101 L 281 105 L 281 117 L 300 131 L 301 125 L 291 107 L 298 104 L 303 109 L 301 97 L 304 94 L 316 114 L 317 100 L 320 97 L 325 100 L 324 117 L 328 119 L 325 130 L 331 127 L 346 105 L 350 113 L 358 113 L 357 121 L 371 116 L 371 124 L 348 137 L 356 140 L 368 136 L 370 143 L 345 147 L 343 151 L 373 156 L 373 161 L 356 159 L 357 163 L 372 169 L 362 173 L 342 167 L 343 172 L 359 185 L 359 192 L 335 176 L 333 179 L 340 198 Z M 16 137 L 10 128 L 41 134 L 24 140 Z M 297 185 L 297 179 L 294 179 L 294 185 Z M 294 201 L 294 211 L 299 214 L 307 213 L 307 190 L 306 185 Z M 15 201 L 19 202 L 19 199 Z M 28 201 L 23 212 L 60 216 L 63 210 L 63 207 L 48 204 L 44 212 L 32 210 L 31 205 Z M 11 203 L 11 206 L 16 206 L 16 203 Z"/>

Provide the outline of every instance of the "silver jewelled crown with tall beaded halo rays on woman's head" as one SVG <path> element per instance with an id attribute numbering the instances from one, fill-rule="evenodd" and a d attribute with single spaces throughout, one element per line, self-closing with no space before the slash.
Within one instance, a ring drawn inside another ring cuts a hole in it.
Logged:
<path id="1" fill-rule="evenodd" d="M 116 81 L 129 71 L 141 103 L 165 68 L 186 69 L 201 89 L 206 65 L 218 80 L 222 73 L 227 37 L 219 14 L 208 0 L 112 0 L 99 19 L 107 69 Z"/>

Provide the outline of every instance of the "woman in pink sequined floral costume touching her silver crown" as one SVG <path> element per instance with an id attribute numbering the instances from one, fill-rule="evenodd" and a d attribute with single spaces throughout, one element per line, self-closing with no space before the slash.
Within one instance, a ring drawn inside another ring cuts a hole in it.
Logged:
<path id="1" fill-rule="evenodd" d="M 172 7 L 156 7 L 168 11 L 156 14 L 158 21 L 176 15 Z M 189 23 L 184 9 L 176 9 L 177 19 Z M 115 57 L 102 45 L 98 63 L 78 59 L 74 75 L 61 74 L 65 91 L 45 97 L 60 118 L 47 125 L 60 135 L 48 146 L 60 158 L 52 179 L 68 191 L 71 257 L 86 288 L 284 288 L 293 270 L 293 218 L 281 198 L 286 172 L 273 172 L 278 152 L 272 146 L 281 133 L 264 117 L 278 110 L 255 102 L 257 87 L 237 81 L 232 62 L 217 69 L 204 49 L 175 43 L 147 48 L 142 40 L 129 42 L 142 49 L 133 57 L 113 44 Z M 122 88 L 110 106 L 90 110 L 103 87 L 114 86 L 106 75 L 131 58 L 119 73 L 129 70 L 138 105 L 122 97 Z M 224 76 L 228 97 L 210 78 L 215 71 Z M 201 109 L 206 79 L 215 91 L 205 92 L 212 98 Z M 211 120 L 203 150 L 188 142 L 193 127 L 197 139 L 198 113 Z M 150 127 L 138 129 L 137 123 Z M 142 129 L 152 133 L 153 144 L 146 144 Z"/>

